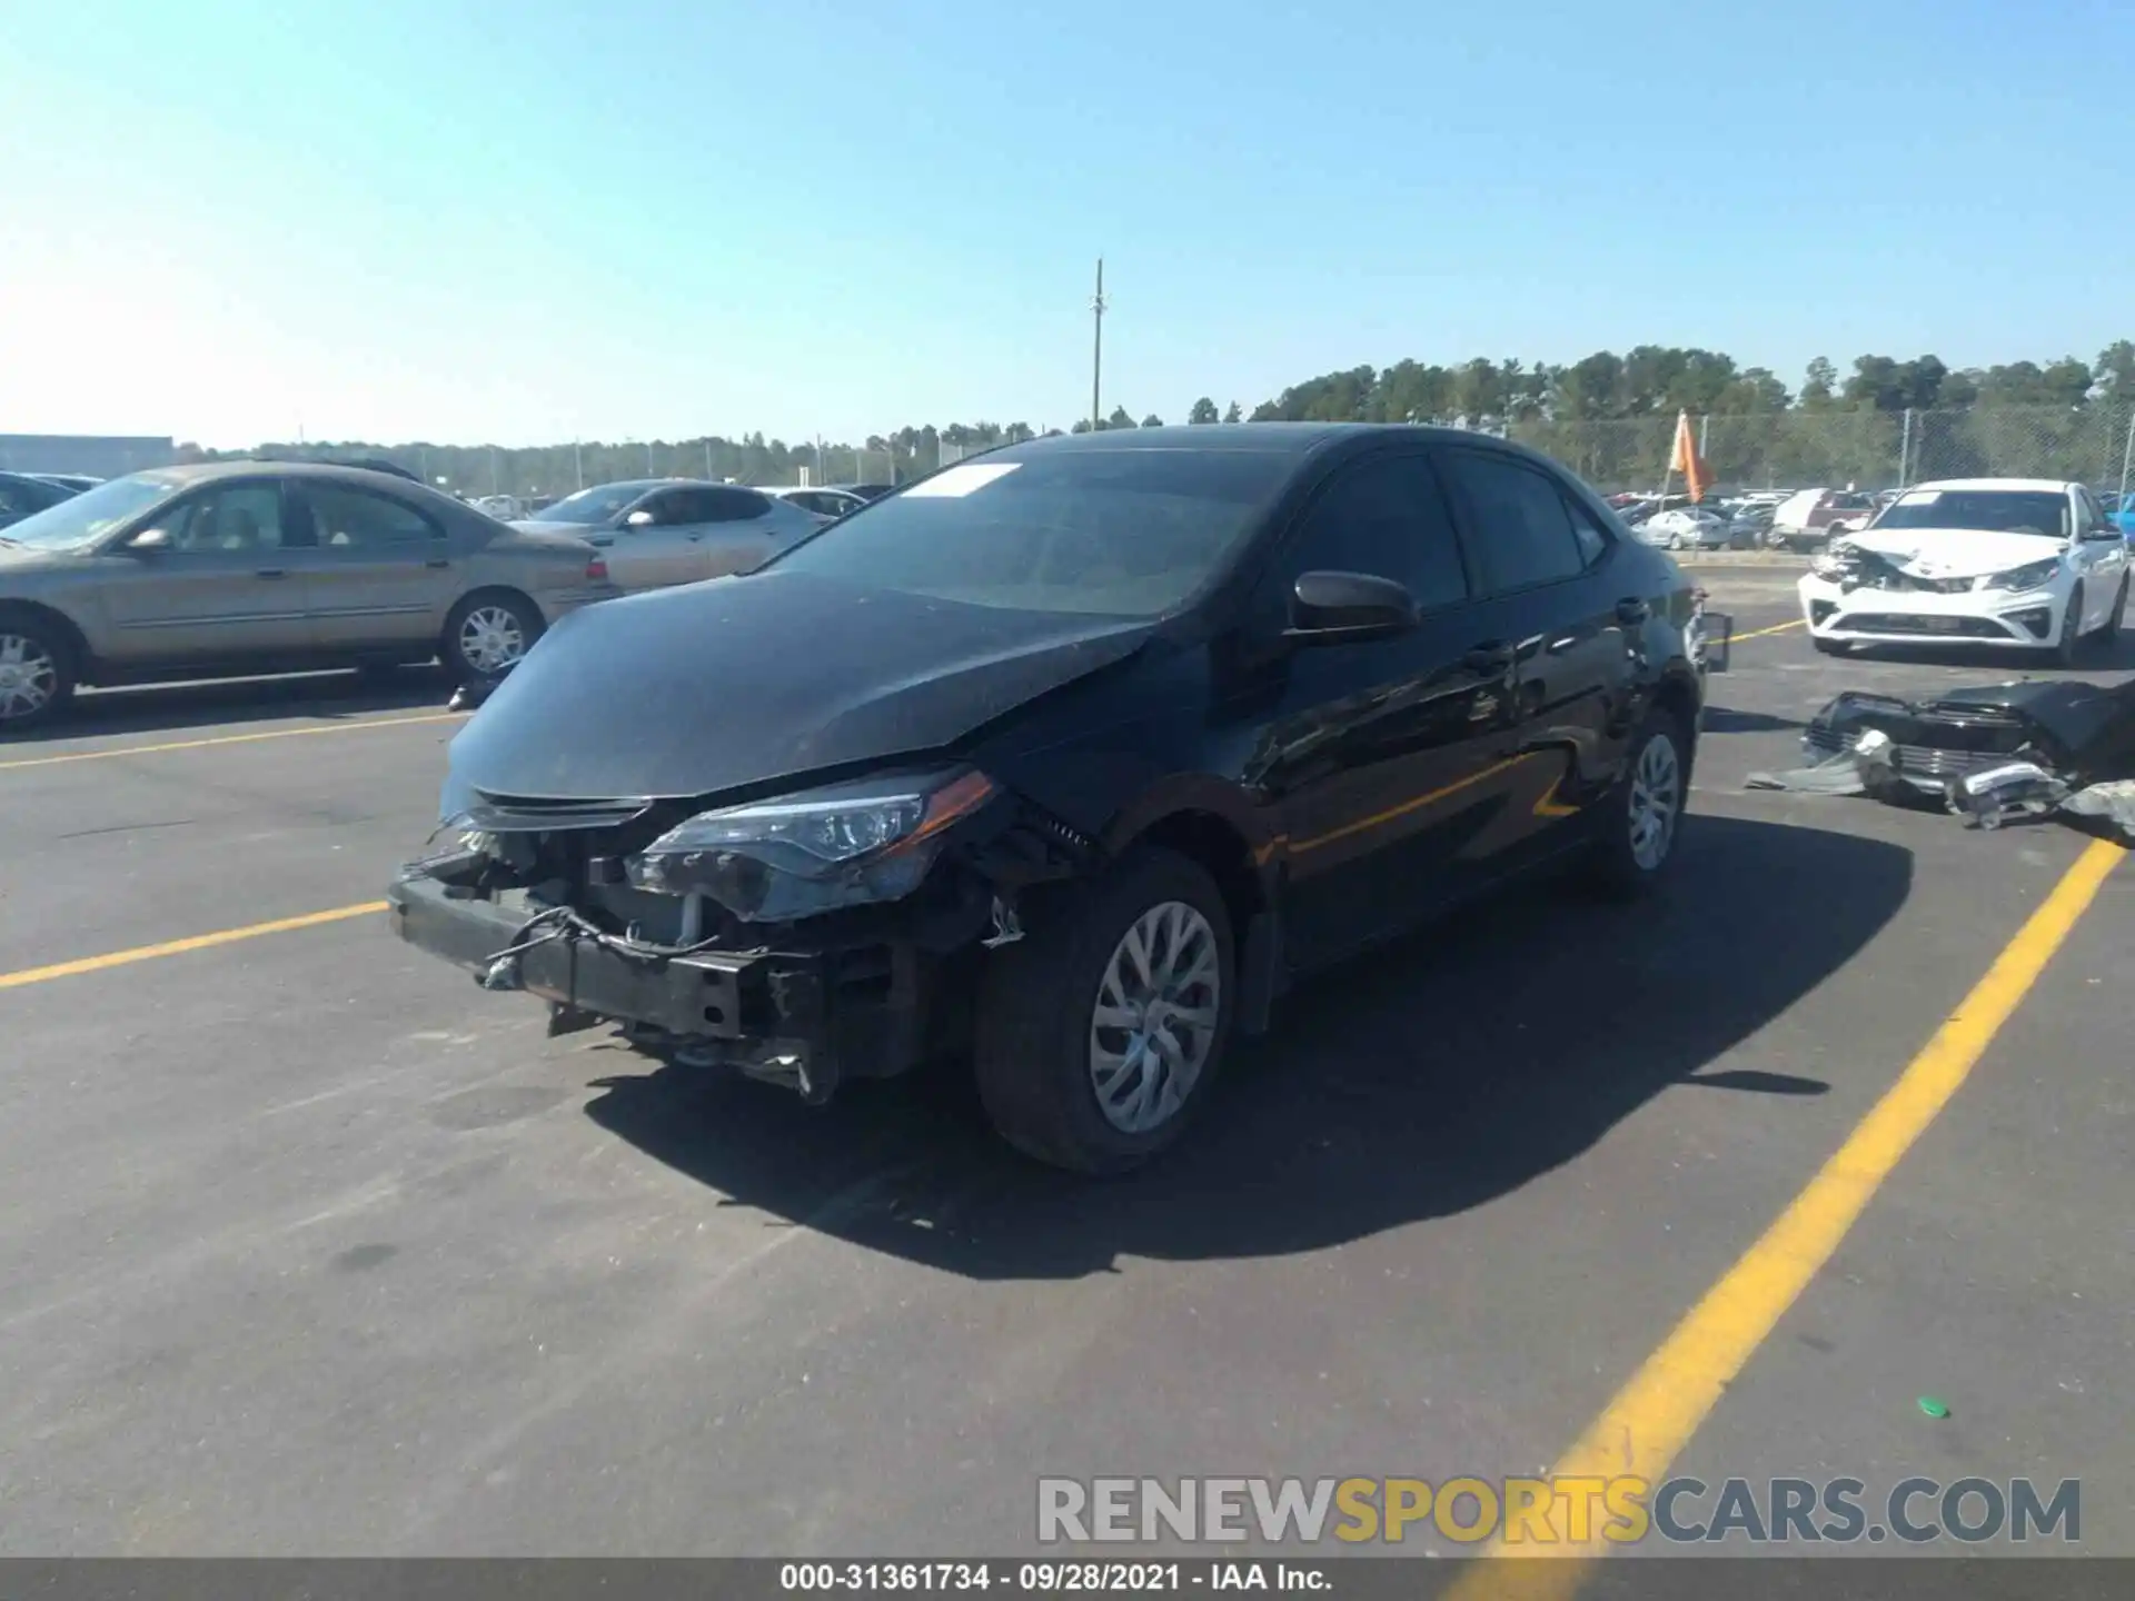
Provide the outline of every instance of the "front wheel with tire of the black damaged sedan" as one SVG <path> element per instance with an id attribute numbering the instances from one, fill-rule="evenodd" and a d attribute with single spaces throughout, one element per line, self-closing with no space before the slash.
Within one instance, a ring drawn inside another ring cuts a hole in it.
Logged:
<path id="1" fill-rule="evenodd" d="M 1230 1046 L 1223 894 L 1198 862 L 1138 847 L 1100 879 L 1033 897 L 1025 920 L 980 982 L 986 1116 L 1055 1168 L 1138 1168 L 1185 1134 Z"/>

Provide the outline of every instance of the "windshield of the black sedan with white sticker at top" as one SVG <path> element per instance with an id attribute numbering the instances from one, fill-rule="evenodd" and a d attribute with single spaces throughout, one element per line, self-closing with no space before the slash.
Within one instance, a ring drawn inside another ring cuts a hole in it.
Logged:
<path id="1" fill-rule="evenodd" d="M 831 523 L 777 566 L 969 606 L 1157 617 L 1215 574 L 1292 463 L 1262 450 L 971 461 Z"/>

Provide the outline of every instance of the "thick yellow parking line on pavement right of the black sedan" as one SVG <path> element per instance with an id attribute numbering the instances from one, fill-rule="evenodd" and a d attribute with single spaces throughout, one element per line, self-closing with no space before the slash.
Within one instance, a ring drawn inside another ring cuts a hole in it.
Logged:
<path id="1" fill-rule="evenodd" d="M 1764 1238 L 1691 1306 L 1552 1473 L 1635 1475 L 1648 1484 L 1659 1484 L 1667 1475 L 1676 1454 L 1810 1279 L 1832 1259 L 1883 1180 L 1962 1089 L 2124 854 L 2120 845 L 2099 839 L 2075 858 L 2054 892 L 2018 929 L 1986 978 L 1958 1001 L 1958 1010 L 1943 1020 L 1875 1110 L 1764 1232 Z M 1559 1501 L 1552 1520 L 1556 1541 L 1499 1543 L 1490 1545 L 1488 1554 L 1571 1560 L 1520 1563 L 1514 1569 L 1482 1563 L 1448 1586 L 1448 1601 L 1484 1597 L 1565 1601 L 1576 1595 L 1588 1563 L 1603 1556 L 1610 1543 L 1593 1524 L 1588 1524 L 1591 1539 L 1571 1541 L 1563 1522 L 1565 1511 L 1565 1501 Z"/>

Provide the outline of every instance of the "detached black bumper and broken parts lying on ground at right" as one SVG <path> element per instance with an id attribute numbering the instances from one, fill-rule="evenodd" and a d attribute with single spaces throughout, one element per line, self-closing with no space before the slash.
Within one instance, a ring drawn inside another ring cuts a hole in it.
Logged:
<path id="1" fill-rule="evenodd" d="M 1847 689 L 1802 732 L 1806 766 L 1751 790 L 1941 800 L 1971 828 L 2062 815 L 2135 843 L 2135 683 L 2065 679 L 1926 700 Z"/>

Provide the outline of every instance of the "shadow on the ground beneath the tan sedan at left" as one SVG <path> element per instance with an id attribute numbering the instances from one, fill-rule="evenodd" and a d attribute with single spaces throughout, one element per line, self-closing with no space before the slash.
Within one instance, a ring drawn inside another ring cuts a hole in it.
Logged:
<path id="1" fill-rule="evenodd" d="M 391 672 L 301 672 L 263 679 L 152 683 L 83 689 L 45 739 L 162 734 L 241 726 L 275 717 L 371 717 L 393 711 L 442 711 L 455 683 L 438 666 Z"/>

